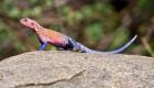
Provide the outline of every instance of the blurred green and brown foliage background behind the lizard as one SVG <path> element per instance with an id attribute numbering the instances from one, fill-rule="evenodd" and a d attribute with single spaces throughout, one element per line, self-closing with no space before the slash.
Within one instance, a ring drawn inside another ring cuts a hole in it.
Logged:
<path id="1" fill-rule="evenodd" d="M 34 32 L 19 22 L 25 16 L 99 51 L 116 50 L 138 34 L 123 53 L 154 56 L 153 3 L 154 0 L 1 0 L 0 59 L 38 50 Z"/>

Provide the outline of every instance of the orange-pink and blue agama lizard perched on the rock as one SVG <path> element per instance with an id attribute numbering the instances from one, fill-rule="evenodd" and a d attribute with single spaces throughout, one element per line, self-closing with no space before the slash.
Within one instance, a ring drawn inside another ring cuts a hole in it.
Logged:
<path id="1" fill-rule="evenodd" d="M 23 25 L 32 29 L 36 33 L 36 35 L 42 44 L 38 51 L 43 51 L 43 50 L 45 50 L 45 47 L 48 44 L 52 44 L 52 45 L 63 48 L 63 50 L 77 51 L 77 52 L 82 52 L 82 53 L 96 53 L 97 52 L 97 51 L 94 51 L 94 50 L 90 50 L 90 48 L 84 46 L 82 44 L 76 42 L 75 40 L 73 40 L 72 37 L 65 35 L 63 33 L 41 26 L 36 21 L 34 21 L 32 19 L 24 18 L 24 19 L 21 19 L 20 22 Z M 135 41 L 136 36 L 138 35 L 135 35 L 132 40 L 130 40 L 125 45 L 123 45 L 119 50 L 111 51 L 109 53 L 123 52 L 127 47 L 129 47 Z"/>

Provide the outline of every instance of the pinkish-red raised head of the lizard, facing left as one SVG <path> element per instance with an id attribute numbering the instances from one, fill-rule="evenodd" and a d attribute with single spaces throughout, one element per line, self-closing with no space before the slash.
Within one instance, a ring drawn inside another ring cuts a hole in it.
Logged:
<path id="1" fill-rule="evenodd" d="M 33 29 L 34 31 L 38 31 L 40 30 L 40 26 L 41 26 L 36 21 L 31 20 L 29 18 L 21 19 L 20 22 L 23 25 L 25 25 L 25 26 L 28 26 L 30 29 Z"/>

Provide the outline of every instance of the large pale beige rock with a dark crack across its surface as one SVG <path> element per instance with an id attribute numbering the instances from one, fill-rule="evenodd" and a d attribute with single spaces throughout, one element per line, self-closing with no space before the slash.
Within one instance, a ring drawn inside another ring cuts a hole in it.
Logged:
<path id="1" fill-rule="evenodd" d="M 154 88 L 154 58 L 30 52 L 0 62 L 0 88 Z"/>

